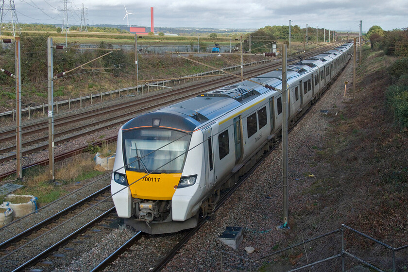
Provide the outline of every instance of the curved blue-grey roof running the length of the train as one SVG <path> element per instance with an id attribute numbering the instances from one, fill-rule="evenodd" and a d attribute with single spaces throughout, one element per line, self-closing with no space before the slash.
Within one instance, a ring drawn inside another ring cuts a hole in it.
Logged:
<path id="1" fill-rule="evenodd" d="M 350 46 L 347 45 L 341 49 L 346 50 Z M 297 78 L 303 74 L 324 66 L 326 62 L 335 59 L 340 54 L 341 50 L 331 50 L 287 66 L 288 84 L 290 85 L 298 80 Z M 282 68 L 254 77 L 251 80 L 224 86 L 195 98 L 136 117 L 126 123 L 123 129 L 134 129 L 136 125 L 137 127 L 154 127 L 153 120 L 158 120 L 161 127 L 175 128 L 174 126 L 177 124 L 176 129 L 193 131 L 196 127 L 237 109 L 242 104 L 250 102 L 267 92 L 276 92 L 279 95 L 279 90 L 282 88 Z M 266 88 L 261 84 L 267 84 L 275 89 Z"/>

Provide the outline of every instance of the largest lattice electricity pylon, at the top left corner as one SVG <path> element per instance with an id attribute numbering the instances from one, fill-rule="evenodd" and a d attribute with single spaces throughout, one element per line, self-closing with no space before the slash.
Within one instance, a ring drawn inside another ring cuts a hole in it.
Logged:
<path id="1" fill-rule="evenodd" d="M 13 37 L 16 36 L 16 32 L 21 36 L 14 0 L 1 0 L 0 35 L 6 30 L 10 31 Z"/>

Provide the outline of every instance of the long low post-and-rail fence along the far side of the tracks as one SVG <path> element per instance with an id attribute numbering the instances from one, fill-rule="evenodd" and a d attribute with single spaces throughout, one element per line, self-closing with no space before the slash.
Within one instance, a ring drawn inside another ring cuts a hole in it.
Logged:
<path id="1" fill-rule="evenodd" d="M 250 63 L 246 63 L 243 66 L 244 67 L 249 67 L 249 66 L 254 66 L 254 65 L 261 65 L 261 64 L 265 64 L 268 62 L 271 62 L 272 60 L 261 60 L 261 61 L 256 61 L 256 62 L 250 62 Z M 234 69 L 238 69 L 240 68 L 240 65 L 237 66 L 230 66 L 230 67 L 226 67 L 223 69 L 226 70 L 234 70 Z M 73 98 L 73 99 L 68 99 L 68 100 L 64 100 L 64 101 L 56 101 L 53 102 L 53 106 L 55 107 L 56 112 L 58 112 L 58 106 L 60 105 L 67 105 L 68 104 L 68 108 L 71 108 L 71 103 L 78 103 L 80 104 L 80 106 L 82 107 L 82 102 L 84 101 L 90 101 L 91 104 L 93 103 L 94 99 L 100 98 L 102 100 L 103 97 L 106 96 L 110 96 L 110 99 L 112 99 L 112 95 L 113 94 L 119 94 L 119 96 L 122 93 L 126 93 L 126 95 L 129 95 L 129 91 L 130 90 L 134 90 L 136 89 L 136 93 L 139 93 L 139 89 L 141 90 L 141 92 L 143 92 L 143 87 L 147 87 L 149 89 L 149 86 L 153 87 L 153 86 L 164 86 L 164 85 L 170 85 L 170 83 L 175 83 L 176 81 L 180 81 L 180 80 L 189 80 L 189 79 L 194 79 L 194 78 L 200 78 L 200 77 L 205 77 L 208 75 L 212 75 L 212 74 L 217 74 L 219 73 L 218 70 L 212 70 L 212 71 L 206 71 L 206 72 L 202 72 L 202 73 L 197 73 L 197 74 L 193 74 L 193 75 L 188 75 L 188 76 L 184 76 L 184 77 L 179 77 L 176 79 L 164 79 L 164 80 L 159 80 L 159 81 L 155 81 L 155 82 L 151 82 L 151 83 L 146 83 L 146 84 L 140 84 L 137 86 L 132 86 L 132 87 L 126 87 L 126 88 L 121 88 L 121 89 L 117 89 L 117 90 L 110 90 L 110 91 L 106 91 L 106 92 L 101 92 L 99 94 L 90 94 L 88 96 L 83 96 L 83 97 L 79 97 L 79 98 Z M 141 81 L 143 82 L 143 81 Z M 47 109 L 47 111 L 46 111 Z M 29 118 L 31 118 L 31 113 L 32 111 L 41 111 L 43 112 L 43 114 L 45 114 L 46 112 L 48 112 L 48 104 L 43 103 L 42 105 L 37 105 L 37 106 L 28 106 L 27 108 L 23 108 L 21 109 L 21 114 L 27 114 Z M 0 113 L 0 117 L 2 116 L 12 116 L 13 120 L 15 119 L 15 115 L 16 115 L 16 110 L 9 110 L 6 112 L 1 112 Z"/>

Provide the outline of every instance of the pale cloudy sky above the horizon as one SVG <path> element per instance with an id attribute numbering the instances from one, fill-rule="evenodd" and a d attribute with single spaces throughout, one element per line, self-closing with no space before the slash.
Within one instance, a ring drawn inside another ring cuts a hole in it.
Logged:
<path id="1" fill-rule="evenodd" d="M 7 0 L 8 1 L 8 0 Z M 6 1 L 4 1 L 6 2 Z M 60 24 L 62 0 L 14 0 L 20 23 Z M 407 0 L 68 0 L 68 24 L 81 25 L 81 6 L 88 25 L 129 25 L 150 27 L 202 27 L 258 29 L 267 25 L 298 25 L 301 28 L 362 31 L 373 25 L 384 30 L 408 27 Z M 6 14 L 6 20 L 11 18 Z"/>

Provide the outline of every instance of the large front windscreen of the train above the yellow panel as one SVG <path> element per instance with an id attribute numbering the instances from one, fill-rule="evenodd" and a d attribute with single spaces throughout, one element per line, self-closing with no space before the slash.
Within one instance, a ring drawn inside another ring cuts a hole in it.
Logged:
<path id="1" fill-rule="evenodd" d="M 145 173 L 181 173 L 191 135 L 169 129 L 124 131 L 126 170 Z"/>

